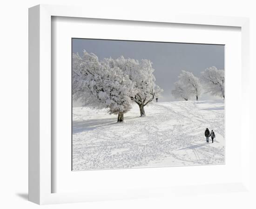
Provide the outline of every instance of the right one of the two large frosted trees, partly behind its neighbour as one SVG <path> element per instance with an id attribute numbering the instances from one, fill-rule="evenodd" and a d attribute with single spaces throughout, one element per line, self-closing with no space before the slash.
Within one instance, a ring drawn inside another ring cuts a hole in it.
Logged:
<path id="1" fill-rule="evenodd" d="M 119 67 L 128 75 L 135 84 L 134 94 L 130 97 L 132 101 L 139 105 L 141 116 L 146 116 L 144 107 L 159 97 L 162 89 L 155 84 L 154 69 L 148 59 L 125 59 L 123 56 L 118 59 L 105 59 L 111 67 Z"/>

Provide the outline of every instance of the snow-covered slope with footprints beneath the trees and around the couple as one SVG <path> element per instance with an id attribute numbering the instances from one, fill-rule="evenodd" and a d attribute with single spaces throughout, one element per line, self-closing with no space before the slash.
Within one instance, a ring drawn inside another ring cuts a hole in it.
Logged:
<path id="1" fill-rule="evenodd" d="M 137 104 L 124 123 L 106 110 L 73 108 L 73 170 L 224 163 L 224 100 Z M 206 128 L 216 140 L 207 144 Z"/>

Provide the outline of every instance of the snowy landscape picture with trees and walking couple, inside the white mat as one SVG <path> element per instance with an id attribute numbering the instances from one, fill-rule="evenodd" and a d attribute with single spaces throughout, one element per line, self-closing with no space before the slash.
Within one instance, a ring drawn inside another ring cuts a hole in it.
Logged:
<path id="1" fill-rule="evenodd" d="M 224 164 L 224 47 L 73 38 L 72 170 Z"/>

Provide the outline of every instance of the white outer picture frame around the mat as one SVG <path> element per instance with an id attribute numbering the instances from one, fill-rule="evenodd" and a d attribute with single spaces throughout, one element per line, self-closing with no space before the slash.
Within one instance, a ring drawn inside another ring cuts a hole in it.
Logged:
<path id="1" fill-rule="evenodd" d="M 86 11 L 86 12 L 85 12 Z M 242 34 L 242 95 L 243 99 L 239 117 L 241 118 L 241 166 L 240 182 L 205 185 L 204 189 L 214 189 L 220 192 L 249 189 L 249 19 L 237 17 L 219 17 L 204 15 L 152 15 L 151 13 L 130 14 L 108 13 L 88 10 L 81 7 L 38 5 L 29 9 L 29 200 L 38 204 L 85 202 L 97 200 L 113 200 L 133 197 L 172 195 L 181 188 L 148 188 L 127 189 L 125 192 L 108 193 L 108 188 L 102 192 L 65 192 L 52 193 L 51 176 L 53 151 L 51 146 L 51 18 L 76 17 L 107 20 L 133 20 L 155 23 L 177 23 L 209 26 L 234 26 L 241 28 Z M 118 172 L 118 171 L 116 171 Z M 193 187 L 198 189 L 199 187 Z M 222 188 L 222 189 L 220 189 Z M 124 188 L 125 189 L 125 188 Z M 201 187 L 202 189 L 202 187 Z"/>

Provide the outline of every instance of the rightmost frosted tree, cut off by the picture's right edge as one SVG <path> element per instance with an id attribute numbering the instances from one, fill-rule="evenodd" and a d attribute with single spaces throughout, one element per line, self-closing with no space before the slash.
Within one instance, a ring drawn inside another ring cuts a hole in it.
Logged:
<path id="1" fill-rule="evenodd" d="M 201 80 L 206 92 L 225 98 L 224 70 L 218 70 L 215 66 L 209 67 L 202 72 Z"/>

